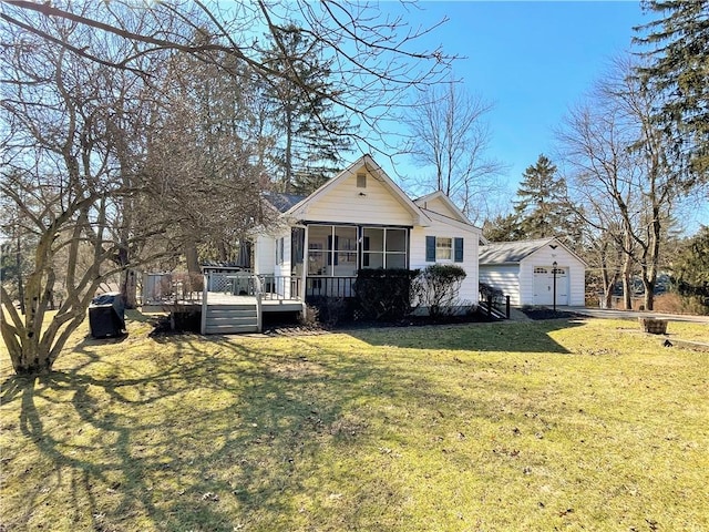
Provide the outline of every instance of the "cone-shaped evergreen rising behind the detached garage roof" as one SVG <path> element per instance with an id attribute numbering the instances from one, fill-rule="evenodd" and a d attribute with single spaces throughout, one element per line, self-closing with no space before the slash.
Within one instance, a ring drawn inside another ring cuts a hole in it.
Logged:
<path id="1" fill-rule="evenodd" d="M 566 203 L 566 181 L 558 176 L 556 166 L 545 155 L 528 166 L 517 188 L 514 214 L 518 218 L 518 236 L 546 238 L 574 236 L 572 211 Z"/>

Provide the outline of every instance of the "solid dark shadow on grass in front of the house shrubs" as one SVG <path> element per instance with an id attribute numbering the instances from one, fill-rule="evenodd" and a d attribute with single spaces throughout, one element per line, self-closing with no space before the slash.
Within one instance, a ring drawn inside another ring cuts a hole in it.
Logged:
<path id="1" fill-rule="evenodd" d="M 382 327 L 348 329 L 341 330 L 341 332 L 372 346 L 491 352 L 568 354 L 569 351 L 555 341 L 549 332 L 583 325 L 584 321 L 579 319 L 549 319 L 407 328 Z"/>

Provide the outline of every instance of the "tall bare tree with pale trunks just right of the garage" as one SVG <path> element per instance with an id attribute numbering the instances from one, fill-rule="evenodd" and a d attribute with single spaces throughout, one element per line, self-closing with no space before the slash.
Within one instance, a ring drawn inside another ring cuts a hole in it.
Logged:
<path id="1" fill-rule="evenodd" d="M 590 205 L 577 213 L 625 255 L 626 307 L 630 272 L 637 266 L 645 308 L 653 309 L 662 239 L 682 200 L 681 177 L 653 123 L 654 96 L 631 75 L 633 69 L 629 61 L 619 61 L 590 103 L 569 113 L 559 140 L 573 168 L 572 197 Z"/>

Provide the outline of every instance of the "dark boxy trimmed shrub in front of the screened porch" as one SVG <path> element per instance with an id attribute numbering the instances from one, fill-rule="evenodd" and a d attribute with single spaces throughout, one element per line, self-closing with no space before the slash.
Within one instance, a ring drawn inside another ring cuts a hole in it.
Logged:
<path id="1" fill-rule="evenodd" d="M 362 318 L 395 320 L 411 314 L 411 283 L 418 275 L 418 269 L 360 269 L 354 293 Z"/>

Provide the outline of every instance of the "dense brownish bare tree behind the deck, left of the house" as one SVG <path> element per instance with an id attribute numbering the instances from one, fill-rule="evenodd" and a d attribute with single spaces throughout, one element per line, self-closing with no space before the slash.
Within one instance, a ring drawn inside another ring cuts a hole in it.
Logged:
<path id="1" fill-rule="evenodd" d="M 182 242 L 192 273 L 199 273 L 198 252 L 233 258 L 247 232 L 265 222 L 264 146 L 273 140 L 259 127 L 258 104 L 258 88 L 236 68 L 189 55 L 167 64 L 147 132 L 145 175 L 172 222 L 167 236 Z M 144 212 L 146 219 L 151 215 Z"/>

